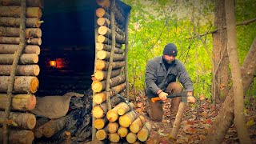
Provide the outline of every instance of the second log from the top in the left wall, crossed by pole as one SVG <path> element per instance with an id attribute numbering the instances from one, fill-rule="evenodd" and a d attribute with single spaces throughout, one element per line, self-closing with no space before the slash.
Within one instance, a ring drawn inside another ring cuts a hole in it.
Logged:
<path id="1" fill-rule="evenodd" d="M 19 18 L 21 14 L 20 6 L 0 6 L 1 17 Z M 27 7 L 26 18 L 41 18 L 42 10 L 39 7 Z"/>

